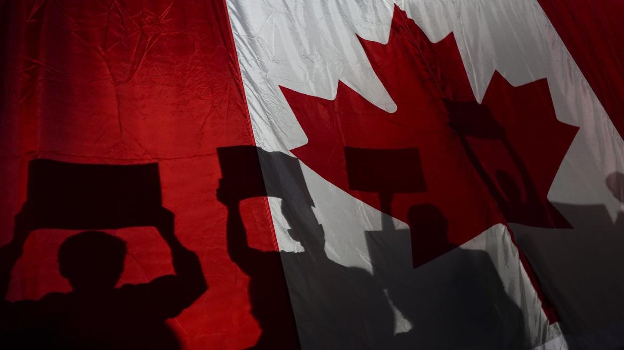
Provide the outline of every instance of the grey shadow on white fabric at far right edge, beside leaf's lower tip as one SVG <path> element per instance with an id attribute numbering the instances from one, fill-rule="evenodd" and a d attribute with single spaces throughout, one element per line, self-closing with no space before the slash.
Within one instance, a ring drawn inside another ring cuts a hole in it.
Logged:
<path id="1" fill-rule="evenodd" d="M 605 185 L 620 203 L 615 221 L 605 205 L 610 201 L 553 203 L 572 229 L 513 227 L 522 251 L 539 266 L 540 286 L 570 349 L 624 346 L 624 174 L 610 173 Z M 599 188 L 596 193 L 600 201 Z"/>

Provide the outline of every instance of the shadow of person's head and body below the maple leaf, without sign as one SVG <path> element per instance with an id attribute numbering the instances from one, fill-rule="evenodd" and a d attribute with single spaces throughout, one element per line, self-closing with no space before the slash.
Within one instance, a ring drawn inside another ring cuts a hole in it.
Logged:
<path id="1" fill-rule="evenodd" d="M 423 242 L 414 254 L 431 247 L 446 247 L 449 253 L 419 268 L 418 285 L 413 280 L 390 283 L 392 303 L 412 325 L 396 335 L 396 348 L 524 349 L 522 311 L 507 296 L 489 254 L 450 243 L 447 220 L 434 205 L 415 205 L 408 220 L 412 234 Z"/>

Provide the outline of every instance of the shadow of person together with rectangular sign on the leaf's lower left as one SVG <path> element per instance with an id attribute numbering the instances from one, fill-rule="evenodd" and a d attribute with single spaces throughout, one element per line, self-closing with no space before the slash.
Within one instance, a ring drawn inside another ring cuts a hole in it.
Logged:
<path id="1" fill-rule="evenodd" d="M 427 192 L 418 150 L 345 147 L 345 156 L 349 188 L 379 193 L 387 214 L 381 231 L 365 235 L 373 276 L 402 316 L 391 348 L 529 348 L 522 312 L 489 253 L 451 243 L 440 208 L 414 197 L 410 230 L 392 225 L 392 195 Z M 425 263 L 414 269 L 413 261 Z"/>

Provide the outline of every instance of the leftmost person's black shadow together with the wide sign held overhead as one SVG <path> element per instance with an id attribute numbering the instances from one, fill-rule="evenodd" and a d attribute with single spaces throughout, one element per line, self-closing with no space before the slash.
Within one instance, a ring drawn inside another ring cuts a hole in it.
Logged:
<path id="1" fill-rule="evenodd" d="M 4 301 L 5 344 L 20 348 L 179 349 L 165 320 L 207 290 L 197 255 L 175 235 L 174 215 L 162 208 L 157 163 L 99 165 L 37 159 L 29 164 L 27 200 L 16 235 L 2 247 L 7 275 L 26 241 L 40 228 L 102 230 L 154 226 L 173 257 L 175 275 L 115 288 L 124 270 L 125 241 L 101 231 L 69 236 L 58 251 L 59 270 L 71 293 L 38 301 Z M 8 253 L 7 253 L 8 252 Z M 7 253 L 5 255 L 5 253 Z M 2 281 L 6 293 L 6 281 Z"/>

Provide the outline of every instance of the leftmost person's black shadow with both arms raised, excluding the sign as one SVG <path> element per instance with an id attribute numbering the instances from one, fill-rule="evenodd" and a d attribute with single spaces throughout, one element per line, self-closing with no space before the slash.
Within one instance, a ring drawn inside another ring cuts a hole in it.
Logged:
<path id="1" fill-rule="evenodd" d="M 125 241 L 100 231 L 70 236 L 58 251 L 69 293 L 2 301 L 0 334 L 4 348 L 16 349 L 179 349 L 165 324 L 207 291 L 197 255 L 174 233 L 174 216 L 162 210 L 158 232 L 169 246 L 175 275 L 115 288 L 124 270 Z M 10 271 L 31 228 L 16 217 L 12 241 L 0 248 L 0 287 L 6 298 Z"/>

